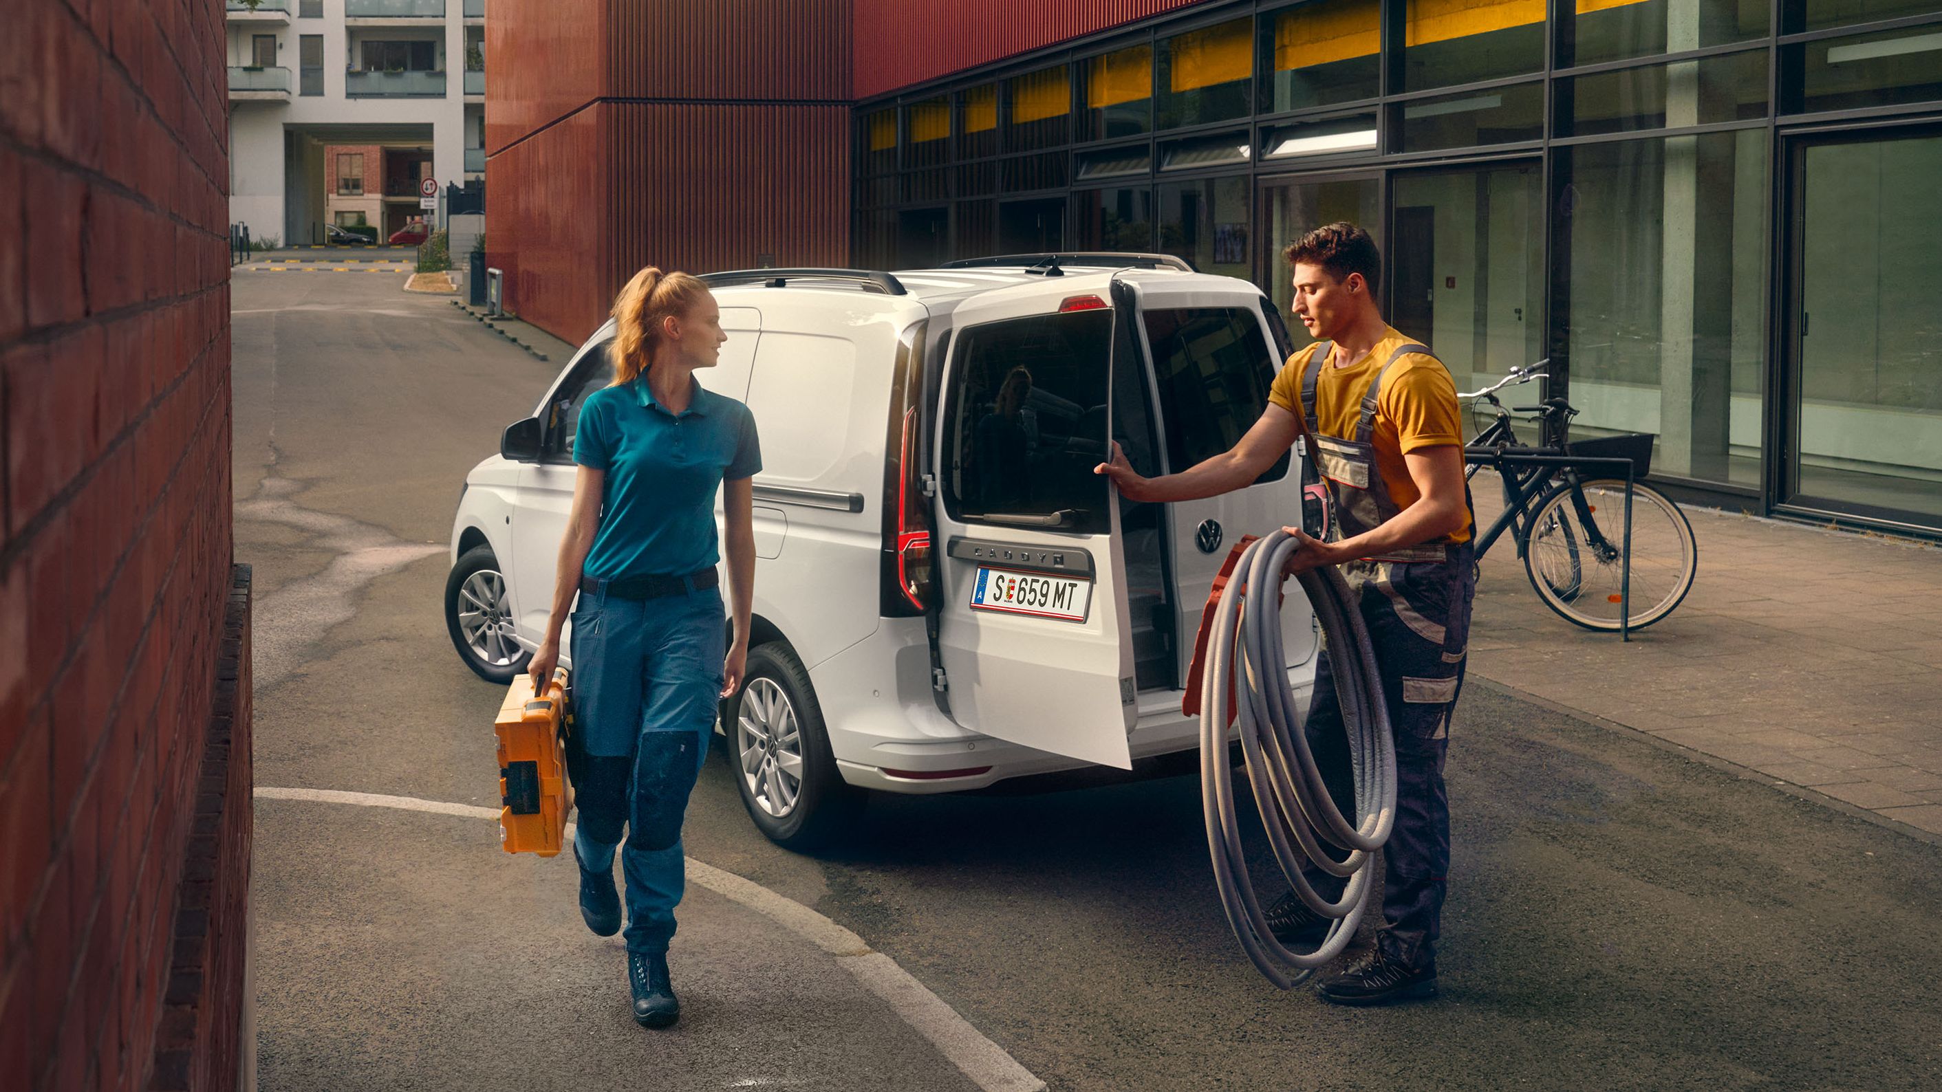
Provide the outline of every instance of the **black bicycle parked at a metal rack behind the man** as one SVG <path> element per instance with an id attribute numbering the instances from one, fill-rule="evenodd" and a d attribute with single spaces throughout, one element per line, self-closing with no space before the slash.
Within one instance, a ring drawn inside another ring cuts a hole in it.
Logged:
<path id="1" fill-rule="evenodd" d="M 1488 403 L 1495 421 L 1464 446 L 1464 479 L 1484 466 L 1503 479 L 1503 514 L 1476 539 L 1482 561 L 1503 531 L 1517 541 L 1530 588 L 1561 619 L 1589 630 L 1645 628 L 1672 613 L 1693 586 L 1699 545 L 1686 512 L 1645 477 L 1653 458 L 1651 433 L 1624 433 L 1563 446 L 1526 446 L 1511 429 L 1511 413 L 1538 413 L 1548 436 L 1561 436 L 1577 409 L 1563 398 L 1542 405 L 1505 407 L 1497 392 L 1544 374 L 1550 361 L 1513 370 L 1501 382 L 1458 394 Z M 1587 477 L 1569 458 L 1624 458 L 1635 466 L 1631 483 L 1631 580 L 1625 580 L 1625 481 Z M 1602 512 L 1600 512 L 1602 510 Z M 1602 516 L 1602 518 L 1600 518 Z M 1614 541 L 1616 539 L 1616 541 Z M 1629 619 L 1622 617 L 1629 599 Z"/>

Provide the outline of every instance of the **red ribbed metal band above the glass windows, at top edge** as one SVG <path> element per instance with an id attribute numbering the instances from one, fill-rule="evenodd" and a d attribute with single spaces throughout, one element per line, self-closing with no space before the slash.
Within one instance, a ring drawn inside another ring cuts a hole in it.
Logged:
<path id="1" fill-rule="evenodd" d="M 872 99 L 1202 0 L 853 0 L 856 80 Z"/>

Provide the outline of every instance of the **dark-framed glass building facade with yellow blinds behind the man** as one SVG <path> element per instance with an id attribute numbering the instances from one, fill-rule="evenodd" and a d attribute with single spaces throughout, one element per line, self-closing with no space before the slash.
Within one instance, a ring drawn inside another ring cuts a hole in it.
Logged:
<path id="1" fill-rule="evenodd" d="M 1206 2 L 866 101 L 853 262 L 1336 219 L 1460 388 L 1754 512 L 1942 533 L 1942 0 Z M 1299 326 L 1295 328 L 1299 337 Z"/>

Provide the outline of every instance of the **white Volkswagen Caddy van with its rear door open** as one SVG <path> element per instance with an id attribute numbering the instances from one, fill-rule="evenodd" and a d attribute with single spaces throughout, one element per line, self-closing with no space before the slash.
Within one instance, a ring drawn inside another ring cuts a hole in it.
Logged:
<path id="1" fill-rule="evenodd" d="M 728 341 L 697 378 L 761 434 L 748 681 L 720 729 L 763 834 L 821 838 L 864 789 L 1196 747 L 1181 698 L 1208 586 L 1239 535 L 1301 518 L 1299 473 L 1284 456 L 1227 497 L 1134 504 L 1093 466 L 1111 434 L 1169 473 L 1255 423 L 1289 349 L 1260 289 L 1138 254 L 707 279 Z M 544 630 L 579 407 L 610 380 L 612 337 L 466 475 L 445 611 L 486 679 L 522 671 Z M 1317 638 L 1297 601 L 1305 692 Z"/>

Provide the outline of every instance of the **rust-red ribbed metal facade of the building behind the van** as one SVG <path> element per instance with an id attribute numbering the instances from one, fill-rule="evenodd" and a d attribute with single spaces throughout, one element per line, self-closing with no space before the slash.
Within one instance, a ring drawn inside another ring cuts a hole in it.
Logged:
<path id="1" fill-rule="evenodd" d="M 643 264 L 847 264 L 854 101 L 1192 2 L 493 0 L 487 264 L 571 341 Z"/>

